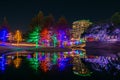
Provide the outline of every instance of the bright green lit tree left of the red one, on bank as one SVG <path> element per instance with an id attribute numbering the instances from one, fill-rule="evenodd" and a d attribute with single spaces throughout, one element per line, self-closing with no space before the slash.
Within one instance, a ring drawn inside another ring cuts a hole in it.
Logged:
<path id="1" fill-rule="evenodd" d="M 29 35 L 28 42 L 36 43 L 36 48 L 37 48 L 39 40 L 40 40 L 40 28 L 35 27 L 34 31 Z"/>

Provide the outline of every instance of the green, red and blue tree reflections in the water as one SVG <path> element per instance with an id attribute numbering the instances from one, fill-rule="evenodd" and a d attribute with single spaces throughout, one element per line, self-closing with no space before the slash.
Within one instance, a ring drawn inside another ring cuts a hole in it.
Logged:
<path id="1" fill-rule="evenodd" d="M 59 71 L 63 71 L 66 66 L 68 66 L 69 54 L 65 55 L 66 53 L 38 53 L 37 57 L 36 55 L 31 57 L 30 55 L 28 56 L 28 60 L 30 62 L 31 68 L 34 70 L 38 70 L 38 67 L 42 69 L 43 72 L 48 72 L 50 71 L 53 66 L 57 66 L 59 68 Z"/>

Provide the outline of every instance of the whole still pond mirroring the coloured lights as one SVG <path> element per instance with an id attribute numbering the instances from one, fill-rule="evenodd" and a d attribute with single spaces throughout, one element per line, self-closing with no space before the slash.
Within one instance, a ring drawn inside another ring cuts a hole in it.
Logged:
<path id="1" fill-rule="evenodd" d="M 120 80 L 120 50 L 3 53 L 0 80 Z"/>

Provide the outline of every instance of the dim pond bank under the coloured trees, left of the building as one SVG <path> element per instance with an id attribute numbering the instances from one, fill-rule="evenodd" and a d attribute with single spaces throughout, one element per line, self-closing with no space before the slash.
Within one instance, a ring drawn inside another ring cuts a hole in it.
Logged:
<path id="1" fill-rule="evenodd" d="M 16 48 L 16 49 L 15 49 Z M 13 52 L 13 51 L 31 51 L 31 52 L 66 52 L 71 51 L 70 48 L 60 48 L 60 47 L 13 47 L 7 48 L 0 46 L 0 54 Z"/>

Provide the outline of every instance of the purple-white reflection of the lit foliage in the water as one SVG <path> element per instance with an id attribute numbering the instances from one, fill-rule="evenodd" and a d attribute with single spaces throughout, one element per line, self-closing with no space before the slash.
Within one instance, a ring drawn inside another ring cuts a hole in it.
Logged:
<path id="1" fill-rule="evenodd" d="M 85 62 L 91 63 L 92 69 L 96 71 L 107 71 L 111 73 L 110 70 L 115 68 L 116 70 L 120 70 L 120 65 L 118 58 L 114 57 L 104 57 L 99 56 L 96 58 L 86 58 Z"/>

